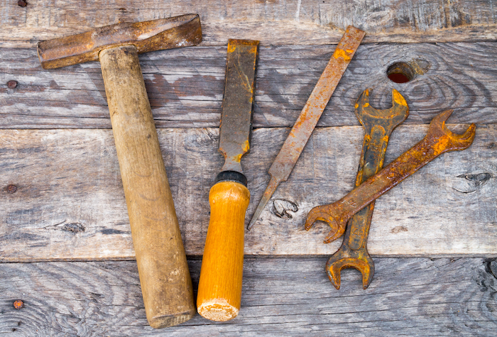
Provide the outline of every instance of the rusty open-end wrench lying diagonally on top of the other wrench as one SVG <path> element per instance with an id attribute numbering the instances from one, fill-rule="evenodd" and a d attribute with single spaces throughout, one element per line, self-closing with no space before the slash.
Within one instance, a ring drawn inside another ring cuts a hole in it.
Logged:
<path id="1" fill-rule="evenodd" d="M 333 204 L 316 206 L 311 209 L 305 221 L 305 229 L 308 231 L 317 220 L 325 221 L 332 228 L 332 231 L 329 232 L 324 243 L 332 242 L 343 235 L 347 221 L 354 214 L 395 187 L 403 179 L 442 153 L 469 148 L 474 140 L 476 125 L 471 124 L 461 135 L 452 133 L 445 126 L 445 121 L 451 114 L 452 110 L 447 110 L 435 116 L 425 138 L 393 160 L 376 175 L 360 184 L 359 187 L 354 188 L 345 197 Z"/>

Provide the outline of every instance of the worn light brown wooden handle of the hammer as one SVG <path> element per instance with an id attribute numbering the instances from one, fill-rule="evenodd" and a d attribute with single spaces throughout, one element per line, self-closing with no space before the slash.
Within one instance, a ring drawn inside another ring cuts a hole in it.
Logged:
<path id="1" fill-rule="evenodd" d="M 195 315 L 192 281 L 133 45 L 99 53 L 146 316 L 153 328 Z"/>

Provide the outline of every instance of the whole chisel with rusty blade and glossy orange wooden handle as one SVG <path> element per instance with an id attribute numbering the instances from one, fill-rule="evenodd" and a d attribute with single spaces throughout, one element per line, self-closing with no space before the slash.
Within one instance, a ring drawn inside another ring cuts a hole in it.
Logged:
<path id="1" fill-rule="evenodd" d="M 250 201 L 240 160 L 250 148 L 258 43 L 228 43 L 219 131 L 219 152 L 225 160 L 209 192 L 211 216 L 197 295 L 199 314 L 212 321 L 234 319 L 240 309 L 245 212 Z"/>

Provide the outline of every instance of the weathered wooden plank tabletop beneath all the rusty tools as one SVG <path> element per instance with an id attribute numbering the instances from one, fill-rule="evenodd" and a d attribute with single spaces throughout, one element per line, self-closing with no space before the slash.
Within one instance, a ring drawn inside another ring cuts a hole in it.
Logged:
<path id="1" fill-rule="evenodd" d="M 0 333 L 6 336 L 496 336 L 497 1 L 0 0 Z M 292 175 L 246 233 L 239 316 L 155 331 L 145 318 L 102 74 L 97 62 L 42 70 L 39 40 L 119 21 L 200 13 L 197 47 L 141 56 L 190 271 L 197 287 L 209 220 L 228 38 L 261 40 L 251 153 L 255 211 L 271 162 L 352 24 L 367 35 Z M 391 82 L 406 62 L 415 77 Z M 7 82 L 15 80 L 10 89 Z M 339 242 L 307 212 L 354 184 L 363 131 L 354 101 L 410 116 L 386 163 L 443 109 L 471 148 L 448 153 L 378 199 L 371 286 L 324 264 Z M 7 187 L 13 185 L 14 188 Z M 14 309 L 15 300 L 23 308 Z"/>

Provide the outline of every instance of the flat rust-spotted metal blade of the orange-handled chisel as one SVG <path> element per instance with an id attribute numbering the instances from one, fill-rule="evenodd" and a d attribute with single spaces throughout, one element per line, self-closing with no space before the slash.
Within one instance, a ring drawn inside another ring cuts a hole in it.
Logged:
<path id="1" fill-rule="evenodd" d="M 228 43 L 219 131 L 219 152 L 225 158 L 222 171 L 243 174 L 240 160 L 250 149 L 258 43 L 252 40 L 229 40 Z"/>

